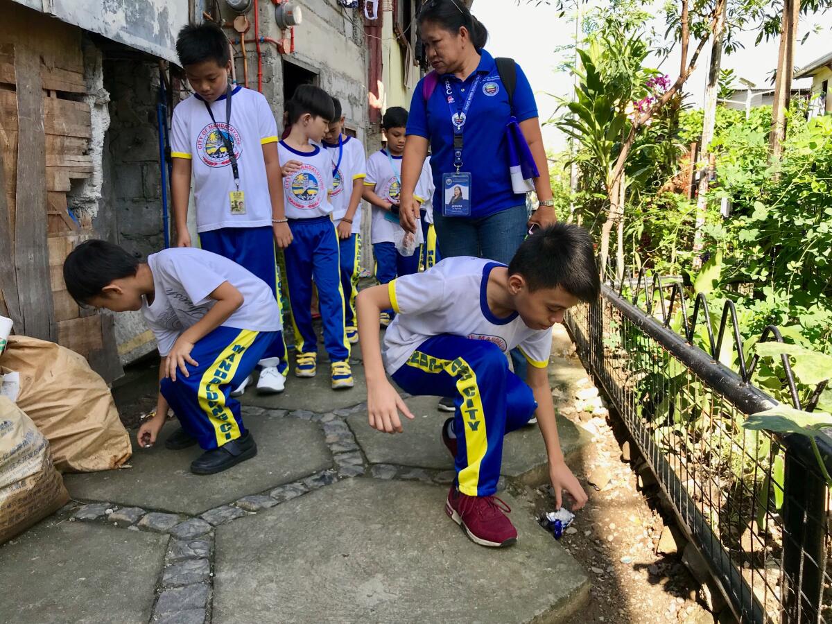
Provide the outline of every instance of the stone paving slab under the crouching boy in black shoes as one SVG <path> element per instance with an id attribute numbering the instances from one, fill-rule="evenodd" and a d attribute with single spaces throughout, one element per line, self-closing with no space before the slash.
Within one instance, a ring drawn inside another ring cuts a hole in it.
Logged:
<path id="1" fill-rule="evenodd" d="M 174 420 L 166 423 L 153 448 L 139 448 L 134 442 L 136 452 L 131 458 L 132 468 L 67 474 L 64 483 L 73 498 L 194 515 L 332 465 L 332 456 L 324 443 L 324 432 L 319 423 L 248 414 L 245 426 L 257 441 L 257 457 L 224 473 L 191 474 L 189 466 L 201 453 L 197 446 L 181 451 L 165 448 L 165 439 L 179 427 Z M 135 432 L 131 432 L 131 436 L 135 436 Z"/>

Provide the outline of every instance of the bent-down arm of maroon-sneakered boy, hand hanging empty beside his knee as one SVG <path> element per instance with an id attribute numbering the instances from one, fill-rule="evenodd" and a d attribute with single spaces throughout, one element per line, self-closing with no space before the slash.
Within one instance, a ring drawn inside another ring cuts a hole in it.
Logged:
<path id="1" fill-rule="evenodd" d="M 387 433 L 402 432 L 399 412 L 413 420 L 404 399 L 399 396 L 393 384 L 387 380 L 384 363 L 381 360 L 379 339 L 379 318 L 381 310 L 388 310 L 390 304 L 388 285 L 373 286 L 359 293 L 356 305 L 359 317 L 359 341 L 364 356 L 364 374 L 367 377 L 367 412 L 369 426 Z"/>

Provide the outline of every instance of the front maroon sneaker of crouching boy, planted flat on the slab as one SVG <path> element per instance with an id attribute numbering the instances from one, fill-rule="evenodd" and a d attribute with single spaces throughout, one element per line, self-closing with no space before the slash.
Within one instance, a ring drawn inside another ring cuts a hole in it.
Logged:
<path id="1" fill-rule="evenodd" d="M 445 513 L 480 546 L 509 546 L 518 541 L 518 531 L 506 513 L 512 508 L 496 496 L 468 496 L 451 486 Z"/>

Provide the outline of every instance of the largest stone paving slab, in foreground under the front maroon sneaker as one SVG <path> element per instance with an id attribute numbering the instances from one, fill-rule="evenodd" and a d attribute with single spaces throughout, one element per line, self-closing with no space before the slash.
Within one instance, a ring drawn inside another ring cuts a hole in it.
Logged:
<path id="1" fill-rule="evenodd" d="M 587 577 L 522 503 L 518 543 L 485 548 L 446 493 L 350 479 L 219 527 L 214 622 L 568 622 Z"/>

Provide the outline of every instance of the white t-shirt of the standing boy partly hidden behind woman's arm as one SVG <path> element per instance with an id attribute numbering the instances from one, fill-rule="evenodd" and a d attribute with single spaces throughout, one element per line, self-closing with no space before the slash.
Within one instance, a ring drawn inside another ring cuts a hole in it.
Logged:
<path id="1" fill-rule="evenodd" d="M 393 162 L 393 168 L 390 167 L 391 161 Z M 367 159 L 367 177 L 364 178 L 364 184 L 366 186 L 374 186 L 375 194 L 383 200 L 390 201 L 394 204 L 399 203 L 401 176 L 401 156 L 388 156 L 387 151 L 379 150 Z M 433 197 L 433 194 L 427 195 L 429 178 L 431 178 L 429 168 L 426 177 L 425 169 L 422 167 L 422 173 L 419 176 L 416 189 L 414 190 L 414 197 L 422 203 L 426 200 L 430 201 L 430 198 Z M 393 221 L 384 218 L 386 211 L 384 208 L 373 206 L 373 235 L 370 241 L 373 245 L 376 243 L 395 242 L 394 231 L 396 228 L 401 228 L 401 225 L 396 225 Z M 416 228 L 416 243 L 420 245 L 423 242 L 422 226 L 419 224 Z"/>

